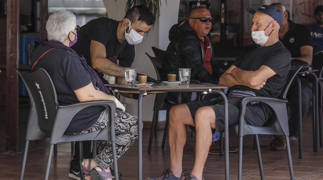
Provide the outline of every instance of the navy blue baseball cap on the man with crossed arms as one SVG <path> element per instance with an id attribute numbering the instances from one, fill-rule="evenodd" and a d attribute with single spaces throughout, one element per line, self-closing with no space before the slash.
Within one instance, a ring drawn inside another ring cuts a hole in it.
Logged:
<path id="1" fill-rule="evenodd" d="M 283 14 L 280 11 L 280 9 L 276 6 L 263 5 L 258 9 L 248 7 L 246 10 L 250 14 L 255 14 L 255 12 L 257 11 L 259 13 L 264 13 L 264 14 L 270 15 L 279 24 L 279 26 L 283 22 Z"/>

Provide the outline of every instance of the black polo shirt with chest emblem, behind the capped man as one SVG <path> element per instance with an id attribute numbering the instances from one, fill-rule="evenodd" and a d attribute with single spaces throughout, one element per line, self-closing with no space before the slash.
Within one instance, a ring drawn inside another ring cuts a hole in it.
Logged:
<path id="1" fill-rule="evenodd" d="M 302 24 L 297 24 L 288 20 L 289 29 L 282 39 L 279 40 L 284 44 L 292 57 L 300 57 L 302 46 L 312 46 L 313 39 L 309 28 Z"/>

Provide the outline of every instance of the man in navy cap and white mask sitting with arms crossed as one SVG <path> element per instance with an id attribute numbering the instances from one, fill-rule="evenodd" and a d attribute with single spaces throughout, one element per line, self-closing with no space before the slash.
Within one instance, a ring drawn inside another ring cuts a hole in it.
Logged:
<path id="1" fill-rule="evenodd" d="M 254 14 L 251 35 L 259 46 L 246 49 L 219 79 L 220 86 L 228 86 L 229 125 L 238 123 L 240 99 L 248 96 L 277 98 L 289 77 L 291 56 L 278 39 L 283 22 L 281 11 L 263 5 L 247 8 Z M 245 121 L 263 126 L 272 116 L 262 102 L 251 102 L 246 107 Z M 186 142 L 185 125 L 195 126 L 195 162 L 192 172 L 182 171 L 182 157 Z M 212 143 L 212 129 L 224 129 L 224 101 L 190 102 L 172 107 L 169 112 L 169 144 L 171 165 L 161 175 L 146 180 L 202 180 L 203 168 Z M 214 179 L 214 178 L 213 178 Z"/>

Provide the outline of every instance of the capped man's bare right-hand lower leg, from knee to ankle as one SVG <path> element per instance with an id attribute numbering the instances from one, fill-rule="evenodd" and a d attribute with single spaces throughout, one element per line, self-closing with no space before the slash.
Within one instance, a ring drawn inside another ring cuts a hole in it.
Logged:
<path id="1" fill-rule="evenodd" d="M 215 127 L 215 113 L 211 107 L 202 107 L 196 111 L 195 163 L 191 174 L 198 180 L 202 180 L 204 164 L 212 143 L 211 128 Z"/>

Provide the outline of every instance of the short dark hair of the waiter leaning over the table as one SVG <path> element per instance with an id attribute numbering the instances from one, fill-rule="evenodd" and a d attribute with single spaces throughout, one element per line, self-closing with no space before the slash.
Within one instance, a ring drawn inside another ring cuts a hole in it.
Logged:
<path id="1" fill-rule="evenodd" d="M 155 15 L 144 5 L 136 5 L 131 7 L 123 19 L 129 19 L 130 22 L 140 21 L 140 23 L 146 23 L 152 25 L 155 23 Z"/>

